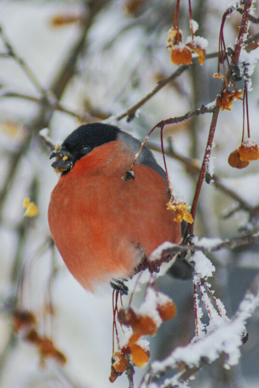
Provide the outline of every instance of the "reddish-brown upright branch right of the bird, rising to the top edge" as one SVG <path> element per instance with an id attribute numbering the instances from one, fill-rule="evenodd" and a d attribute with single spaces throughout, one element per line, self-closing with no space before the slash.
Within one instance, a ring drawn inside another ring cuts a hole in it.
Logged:
<path id="1" fill-rule="evenodd" d="M 226 90 L 226 88 L 231 80 L 232 68 L 233 68 L 233 66 L 238 64 L 241 47 L 244 43 L 244 36 L 245 36 L 245 33 L 247 31 L 247 28 L 248 28 L 248 16 L 249 16 L 249 10 L 251 8 L 251 4 L 252 4 L 252 0 L 246 0 L 244 3 L 244 14 L 242 17 L 241 27 L 240 27 L 238 38 L 237 38 L 237 43 L 236 43 L 236 46 L 234 49 L 234 54 L 232 56 L 232 60 L 231 60 L 230 66 L 229 66 L 226 80 L 224 79 L 219 94 L 223 93 L 223 91 Z M 228 13 L 228 11 L 226 11 L 226 13 Z M 212 152 L 212 145 L 213 145 L 213 139 L 214 139 L 214 133 L 215 133 L 216 124 L 217 124 L 218 114 L 219 114 L 219 107 L 217 106 L 213 112 L 213 117 L 212 117 L 209 136 L 208 136 L 208 140 L 207 140 L 206 150 L 205 150 L 205 154 L 203 157 L 201 170 L 200 170 L 200 173 L 198 176 L 197 186 L 196 186 L 194 199 L 193 199 L 193 203 L 192 203 L 191 215 L 192 215 L 194 220 L 195 220 L 195 216 L 196 216 L 196 210 L 197 210 L 198 198 L 199 198 L 201 186 L 202 186 L 205 174 L 208 171 L 208 165 L 209 165 L 209 160 L 210 160 L 210 156 L 211 156 L 211 152 Z M 186 242 L 188 235 L 193 234 L 193 230 L 194 230 L 194 223 L 188 224 L 187 229 L 186 229 L 186 233 L 184 236 L 184 242 Z"/>

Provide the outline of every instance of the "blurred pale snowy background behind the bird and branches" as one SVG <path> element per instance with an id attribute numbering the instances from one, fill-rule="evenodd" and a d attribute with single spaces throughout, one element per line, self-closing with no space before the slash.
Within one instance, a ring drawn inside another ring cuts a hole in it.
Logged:
<path id="1" fill-rule="evenodd" d="M 40 85 L 37 87 L 25 74 L 17 58 L 6 55 L 6 45 L 0 39 L 1 388 L 111 387 L 108 375 L 112 291 L 106 290 L 101 295 L 86 293 L 67 271 L 58 252 L 53 253 L 47 206 L 58 176 L 50 167 L 49 149 L 38 132 L 48 127 L 51 138 L 61 143 L 92 116 L 117 124 L 142 140 L 160 120 L 181 116 L 212 102 L 221 86 L 221 81 L 212 77 L 217 72 L 217 58 L 206 60 L 203 66 L 195 62 L 137 110 L 131 122 L 126 118 L 116 121 L 116 116 L 177 69 L 166 49 L 175 4 L 175 0 L 0 1 L 3 34 Z M 228 5 L 229 0 L 192 1 L 193 18 L 199 24 L 197 33 L 209 42 L 207 53 L 218 49 L 221 18 Z M 257 5 L 256 2 L 255 8 Z M 255 16 L 259 16 L 258 9 Z M 235 43 L 241 17 L 235 12 L 227 20 L 224 28 L 227 45 Z M 180 26 L 185 37 L 190 34 L 188 23 L 188 2 L 182 0 Z M 258 31 L 258 25 L 251 24 L 250 34 Z M 248 94 L 250 132 L 257 142 L 258 82 L 257 67 L 254 89 Z M 238 88 L 243 87 L 240 82 Z M 51 93 L 61 106 L 57 107 Z M 211 114 L 206 114 L 168 125 L 164 134 L 172 136 L 177 153 L 201 162 L 210 120 Z M 258 161 L 244 170 L 235 170 L 228 164 L 230 152 L 240 145 L 242 125 L 242 101 L 236 101 L 230 112 L 220 112 L 212 153 L 214 173 L 255 215 L 254 209 L 259 206 Z M 151 140 L 159 145 L 159 132 Z M 155 156 L 162 165 L 162 155 L 155 152 Z M 172 186 L 191 204 L 196 173 L 169 156 L 167 164 Z M 23 217 L 25 197 L 37 204 L 37 217 Z M 204 183 L 195 234 L 227 239 L 254 228 L 244 206 L 226 217 L 235 204 L 231 195 Z M 209 258 L 216 267 L 213 288 L 231 317 L 258 272 L 259 246 L 222 250 Z M 166 357 L 195 334 L 192 281 L 165 275 L 157 283 L 159 290 L 174 300 L 178 314 L 151 339 L 152 359 Z M 45 368 L 40 368 L 37 349 L 13 332 L 15 299 L 35 313 L 42 333 L 53 336 L 56 346 L 67 357 L 63 367 L 48 360 Z M 221 357 L 199 371 L 191 387 L 259 386 L 258 311 L 249 320 L 247 329 L 249 340 L 241 349 L 240 364 L 226 370 Z M 143 373 L 144 370 L 137 370 L 136 385 Z M 125 375 L 114 383 L 115 388 L 127 386 Z"/>

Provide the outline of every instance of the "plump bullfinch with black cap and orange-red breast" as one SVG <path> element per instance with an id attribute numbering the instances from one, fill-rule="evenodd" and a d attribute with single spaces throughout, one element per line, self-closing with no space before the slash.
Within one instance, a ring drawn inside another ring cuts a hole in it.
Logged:
<path id="1" fill-rule="evenodd" d="M 167 210 L 165 171 L 141 143 L 118 127 L 79 126 L 56 149 L 52 167 L 61 171 L 48 207 L 54 242 L 69 271 L 87 290 L 118 284 L 165 241 L 178 244 L 181 224 Z"/>

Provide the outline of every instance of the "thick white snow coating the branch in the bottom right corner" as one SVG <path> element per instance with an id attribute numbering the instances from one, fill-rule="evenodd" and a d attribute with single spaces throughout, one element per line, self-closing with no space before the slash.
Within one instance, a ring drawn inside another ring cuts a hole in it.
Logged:
<path id="1" fill-rule="evenodd" d="M 211 363 L 225 354 L 225 368 L 236 365 L 240 358 L 240 346 L 244 342 L 246 321 L 259 305 L 259 276 L 254 280 L 252 287 L 247 291 L 243 301 L 231 320 L 222 323 L 213 332 L 192 342 L 187 346 L 176 348 L 167 358 L 152 363 L 150 371 L 145 376 L 141 388 L 151 387 L 155 377 L 161 376 L 168 370 L 184 366 L 184 371 L 165 381 L 164 387 L 188 387 L 183 385 L 192 373 L 203 365 Z M 186 373 L 186 371 L 189 371 Z M 185 373 L 185 375 L 184 375 Z M 182 384 L 182 385 L 181 385 Z"/>

